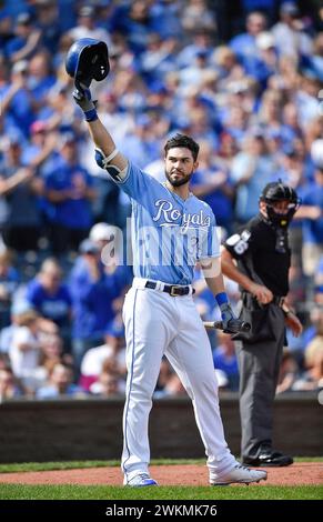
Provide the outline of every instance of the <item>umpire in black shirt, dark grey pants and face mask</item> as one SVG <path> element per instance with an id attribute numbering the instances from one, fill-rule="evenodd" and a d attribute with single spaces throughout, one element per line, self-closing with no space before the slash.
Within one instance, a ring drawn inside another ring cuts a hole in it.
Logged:
<path id="1" fill-rule="evenodd" d="M 240 367 L 241 453 L 249 465 L 282 466 L 293 459 L 272 448 L 273 402 L 285 344 L 285 325 L 293 334 L 302 324 L 289 310 L 291 250 L 287 228 L 300 204 L 296 192 L 281 181 L 265 185 L 260 212 L 222 252 L 223 273 L 242 291 L 240 319 L 251 331 L 234 337 Z"/>

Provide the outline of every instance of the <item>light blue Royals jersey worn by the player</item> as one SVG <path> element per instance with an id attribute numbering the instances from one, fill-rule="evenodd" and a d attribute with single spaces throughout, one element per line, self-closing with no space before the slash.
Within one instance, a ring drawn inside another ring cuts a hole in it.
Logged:
<path id="1" fill-rule="evenodd" d="M 215 218 L 206 203 L 193 194 L 183 200 L 132 163 L 118 184 L 132 203 L 135 277 L 191 284 L 196 261 L 220 255 Z"/>

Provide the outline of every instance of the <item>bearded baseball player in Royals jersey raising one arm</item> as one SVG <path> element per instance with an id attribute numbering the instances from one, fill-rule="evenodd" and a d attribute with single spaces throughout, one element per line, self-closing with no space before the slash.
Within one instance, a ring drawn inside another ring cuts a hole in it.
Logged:
<path id="1" fill-rule="evenodd" d="M 226 445 L 211 348 L 192 299 L 193 268 L 199 260 L 221 309 L 223 327 L 239 328 L 220 271 L 214 215 L 189 189 L 198 167 L 199 145 L 182 134 L 170 139 L 164 147 L 166 180 L 160 183 L 117 150 L 98 118 L 87 84 L 89 81 L 78 81 L 73 97 L 89 123 L 97 147 L 95 160 L 132 203 L 134 280 L 123 307 L 128 367 L 124 484 L 157 485 L 149 474 L 148 421 L 163 355 L 192 399 L 208 455 L 210 483 L 266 479 L 266 472 L 238 463 Z"/>

